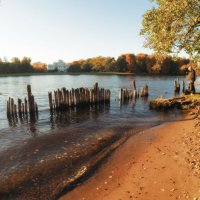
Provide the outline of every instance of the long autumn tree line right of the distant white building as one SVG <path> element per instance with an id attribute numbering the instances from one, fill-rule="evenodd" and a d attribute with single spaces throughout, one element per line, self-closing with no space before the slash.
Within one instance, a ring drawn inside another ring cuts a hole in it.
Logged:
<path id="1" fill-rule="evenodd" d="M 164 54 L 124 54 L 113 57 L 95 57 L 71 63 L 69 72 L 129 72 L 151 75 L 181 75 L 186 58 L 173 58 Z"/>

